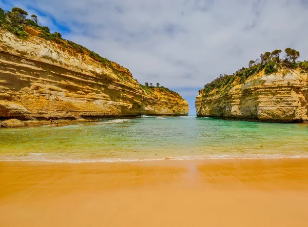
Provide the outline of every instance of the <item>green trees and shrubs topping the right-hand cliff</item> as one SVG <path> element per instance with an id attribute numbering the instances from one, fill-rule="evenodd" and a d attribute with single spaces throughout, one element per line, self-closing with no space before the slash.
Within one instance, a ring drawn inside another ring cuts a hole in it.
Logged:
<path id="1" fill-rule="evenodd" d="M 233 83 L 236 81 L 239 84 L 243 84 L 249 77 L 252 77 L 264 70 L 265 74 L 277 73 L 279 70 L 283 70 L 283 75 L 290 72 L 290 70 L 299 69 L 301 73 L 308 72 L 308 61 L 298 61 L 300 53 L 294 49 L 286 48 L 285 54 L 280 58 L 281 50 L 274 50 L 272 52 L 265 52 L 260 55 L 260 58 L 249 61 L 248 68 L 243 67 L 233 74 L 222 75 L 210 83 L 206 84 L 203 89 L 203 94 L 207 95 L 213 90 L 216 92 L 227 93 Z"/>

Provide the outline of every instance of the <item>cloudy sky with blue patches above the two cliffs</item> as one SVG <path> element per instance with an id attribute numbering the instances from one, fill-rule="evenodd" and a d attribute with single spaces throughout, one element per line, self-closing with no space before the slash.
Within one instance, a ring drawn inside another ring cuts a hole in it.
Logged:
<path id="1" fill-rule="evenodd" d="M 308 59 L 308 0 L 0 0 L 128 68 L 141 84 L 198 90 L 220 74 L 287 47 Z"/>

